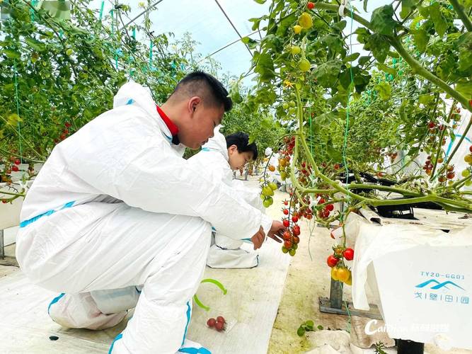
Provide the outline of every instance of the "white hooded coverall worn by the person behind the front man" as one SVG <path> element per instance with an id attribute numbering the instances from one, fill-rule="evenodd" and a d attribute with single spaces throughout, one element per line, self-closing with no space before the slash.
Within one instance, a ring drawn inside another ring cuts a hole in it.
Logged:
<path id="1" fill-rule="evenodd" d="M 241 202 L 248 202 L 253 207 L 265 212 L 260 200 L 260 191 L 246 188 L 243 181 L 233 179 L 233 172 L 229 166 L 229 155 L 226 147 L 226 138 L 219 132 L 221 126 L 214 129 L 214 137 L 202 146 L 202 151 L 188 159 L 195 169 L 203 169 L 212 173 L 214 181 L 222 181 L 234 188 L 241 197 Z M 246 241 L 246 240 L 245 240 Z M 212 268 L 253 268 L 258 265 L 258 254 L 241 249 L 243 241 L 237 234 L 225 236 L 219 230 L 214 235 L 214 244 L 209 249 L 207 265 Z"/>

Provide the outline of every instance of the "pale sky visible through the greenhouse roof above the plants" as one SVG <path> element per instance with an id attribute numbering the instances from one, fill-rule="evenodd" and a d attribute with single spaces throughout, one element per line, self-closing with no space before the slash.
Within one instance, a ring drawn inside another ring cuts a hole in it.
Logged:
<path id="1" fill-rule="evenodd" d="M 151 4 L 155 2 L 151 1 Z M 103 13 L 109 13 L 114 3 L 114 0 L 105 0 Z M 171 42 L 181 40 L 184 33 L 188 32 L 192 39 L 199 43 L 195 48 L 196 52 L 200 53 L 202 57 L 206 57 L 225 45 L 238 40 L 238 33 L 243 37 L 253 33 L 252 23 L 248 19 L 268 14 L 270 3 L 270 0 L 267 0 L 265 4 L 258 4 L 254 0 L 161 0 L 156 6 L 156 10 L 152 11 L 149 16 L 152 22 L 151 31 L 154 31 L 154 35 L 172 32 L 175 37 L 171 38 Z M 391 1 L 387 0 L 370 0 L 367 13 L 363 11 L 362 0 L 352 1 L 351 4 L 357 8 L 360 16 L 369 20 L 374 8 L 390 3 Z M 100 9 L 101 4 L 102 0 L 93 0 L 89 4 L 89 8 Z M 119 4 L 131 6 L 132 10 L 128 15 L 130 19 L 143 11 L 143 8 L 138 6 L 139 1 L 136 0 L 119 1 Z M 144 4 L 147 4 L 147 1 L 144 1 Z M 231 26 L 219 6 L 234 24 L 238 33 Z M 141 16 L 135 22 L 142 24 L 143 20 L 144 16 Z M 345 18 L 345 20 L 347 26 L 344 33 L 347 34 L 351 30 L 351 19 Z M 124 21 L 127 21 L 127 19 L 124 19 Z M 262 28 L 263 25 L 260 27 Z M 357 23 L 352 23 L 352 31 L 355 31 L 356 28 Z M 263 33 L 261 34 L 263 35 Z M 362 45 L 357 42 L 356 37 L 356 35 L 352 36 L 352 52 L 360 52 L 361 56 L 367 55 L 367 52 L 362 50 Z M 258 40 L 260 38 L 259 33 L 251 35 L 251 38 Z M 149 41 L 144 33 L 137 33 L 137 39 L 145 42 Z M 251 54 L 241 41 L 229 45 L 229 47 L 217 52 L 212 57 L 219 62 L 223 73 L 228 72 L 231 75 L 239 76 L 251 68 Z M 251 79 L 251 76 L 245 81 L 248 86 L 251 85 L 249 79 Z"/>

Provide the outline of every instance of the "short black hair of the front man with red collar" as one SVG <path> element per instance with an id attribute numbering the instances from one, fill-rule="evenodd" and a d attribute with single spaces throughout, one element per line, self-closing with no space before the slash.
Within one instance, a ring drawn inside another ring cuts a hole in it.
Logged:
<path id="1" fill-rule="evenodd" d="M 205 72 L 192 72 L 185 76 L 175 86 L 169 100 L 181 101 L 184 98 L 199 96 L 203 104 L 209 106 L 224 106 L 228 112 L 233 107 L 233 101 L 228 97 L 228 91 L 214 76 Z"/>

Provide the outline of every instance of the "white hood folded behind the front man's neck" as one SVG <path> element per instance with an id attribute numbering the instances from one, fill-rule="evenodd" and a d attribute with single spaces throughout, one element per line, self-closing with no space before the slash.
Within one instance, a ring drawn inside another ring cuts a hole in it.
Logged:
<path id="1" fill-rule="evenodd" d="M 171 131 L 162 120 L 159 113 L 157 113 L 156 103 L 152 98 L 149 87 L 141 86 L 134 81 L 129 81 L 127 84 L 121 86 L 120 90 L 118 90 L 117 94 L 113 98 L 113 108 L 121 107 L 122 105 L 137 106 L 147 114 L 155 117 L 156 122 L 159 124 L 159 128 L 161 128 L 162 134 L 169 142 L 172 141 Z M 177 150 L 183 154 L 183 152 L 185 152 L 185 146 L 179 144 Z"/>

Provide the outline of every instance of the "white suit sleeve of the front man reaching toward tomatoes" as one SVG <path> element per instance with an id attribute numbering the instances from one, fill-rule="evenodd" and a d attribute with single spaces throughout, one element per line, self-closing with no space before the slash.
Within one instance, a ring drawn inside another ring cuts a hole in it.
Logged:
<path id="1" fill-rule="evenodd" d="M 76 176 L 132 207 L 198 216 L 241 239 L 267 224 L 235 190 L 178 156 L 149 120 L 132 106 L 110 110 L 65 140 L 58 153 Z"/>

